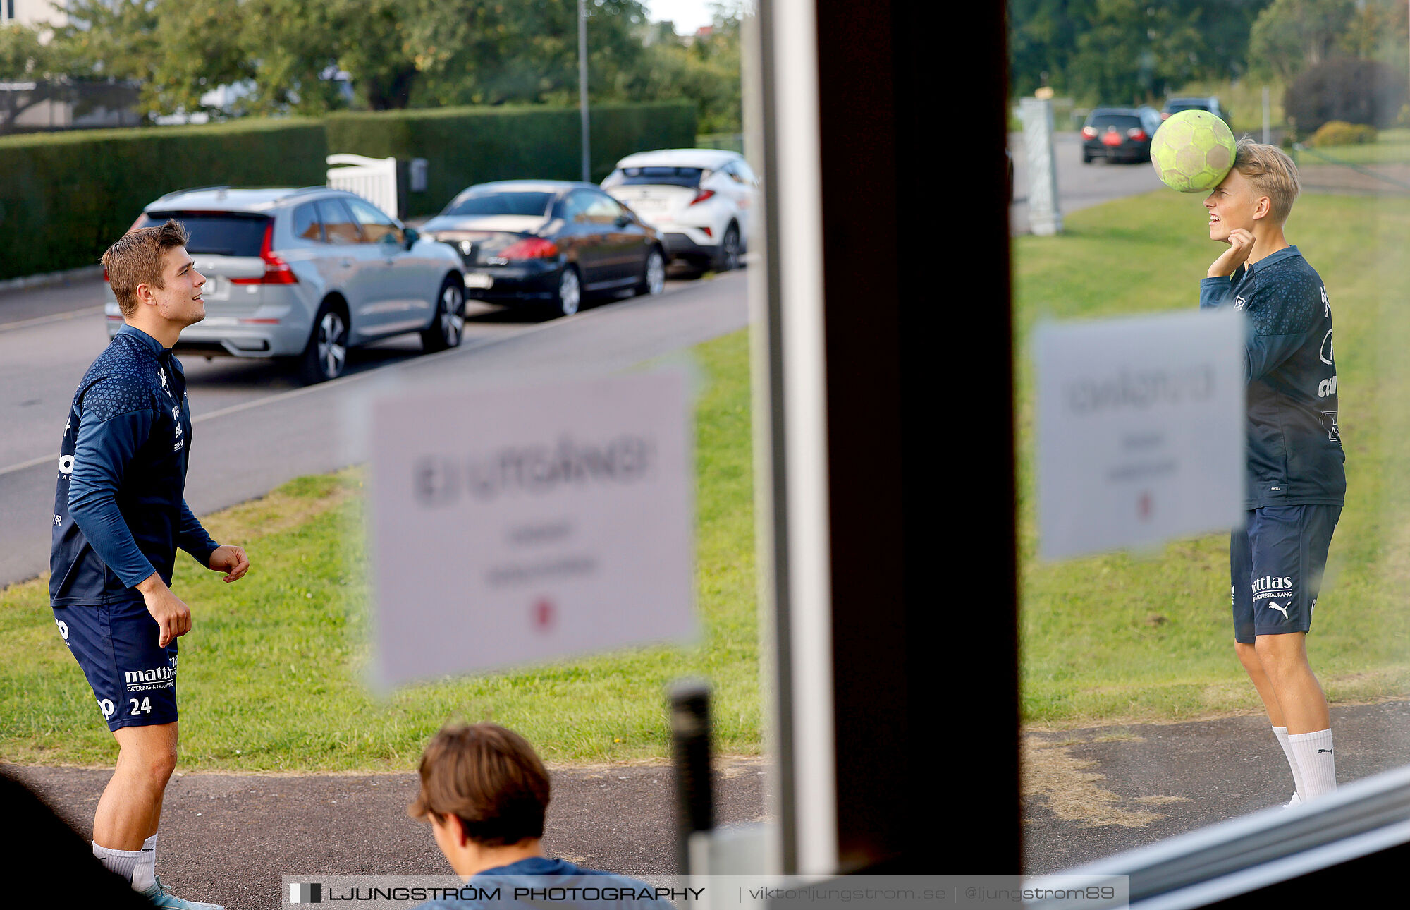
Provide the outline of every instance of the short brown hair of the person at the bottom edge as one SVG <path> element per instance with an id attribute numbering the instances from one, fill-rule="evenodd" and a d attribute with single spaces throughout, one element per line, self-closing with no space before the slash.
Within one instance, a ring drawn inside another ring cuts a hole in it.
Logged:
<path id="1" fill-rule="evenodd" d="M 498 724 L 443 727 L 422 752 L 413 818 L 455 815 L 470 839 L 505 847 L 543 837 L 548 772 L 533 746 Z"/>

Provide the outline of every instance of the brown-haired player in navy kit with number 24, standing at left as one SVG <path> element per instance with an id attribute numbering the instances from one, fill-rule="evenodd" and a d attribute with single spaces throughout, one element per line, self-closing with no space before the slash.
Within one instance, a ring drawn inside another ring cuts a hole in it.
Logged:
<path id="1" fill-rule="evenodd" d="M 168 587 L 176 549 L 227 583 L 250 569 L 241 547 L 210 539 L 185 499 L 190 405 L 171 348 L 206 317 L 206 279 L 178 222 L 130 231 L 103 265 L 127 324 L 69 406 L 49 602 L 118 745 L 93 815 L 93 854 L 158 907 L 210 910 L 157 878 L 162 794 L 176 766 L 176 639 L 192 625 Z"/>

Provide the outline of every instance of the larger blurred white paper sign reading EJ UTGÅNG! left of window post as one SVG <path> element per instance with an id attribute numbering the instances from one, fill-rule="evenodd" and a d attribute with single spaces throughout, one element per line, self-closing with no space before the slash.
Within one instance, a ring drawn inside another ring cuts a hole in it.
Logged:
<path id="1" fill-rule="evenodd" d="M 685 378 L 372 406 L 384 684 L 694 635 Z"/>

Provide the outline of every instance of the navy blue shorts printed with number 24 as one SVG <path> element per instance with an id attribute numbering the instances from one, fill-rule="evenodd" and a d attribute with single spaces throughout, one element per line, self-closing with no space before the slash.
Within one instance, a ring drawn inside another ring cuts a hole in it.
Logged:
<path id="1" fill-rule="evenodd" d="M 161 629 L 147 604 L 55 607 L 54 621 L 109 729 L 176 721 L 176 639 L 157 645 Z"/>

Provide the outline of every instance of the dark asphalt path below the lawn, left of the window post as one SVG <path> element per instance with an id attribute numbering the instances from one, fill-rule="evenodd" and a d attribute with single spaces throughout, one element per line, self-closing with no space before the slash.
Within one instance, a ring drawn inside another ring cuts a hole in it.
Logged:
<path id="1" fill-rule="evenodd" d="M 83 837 L 110 770 L 17 768 Z M 594 869 L 674 875 L 675 783 L 666 765 L 551 768 L 544 851 Z M 764 821 L 764 765 L 716 765 L 719 825 Z M 173 893 L 226 910 L 281 907 L 286 875 L 451 875 L 430 825 L 410 818 L 417 776 L 182 775 L 162 806 L 157 872 Z"/>

